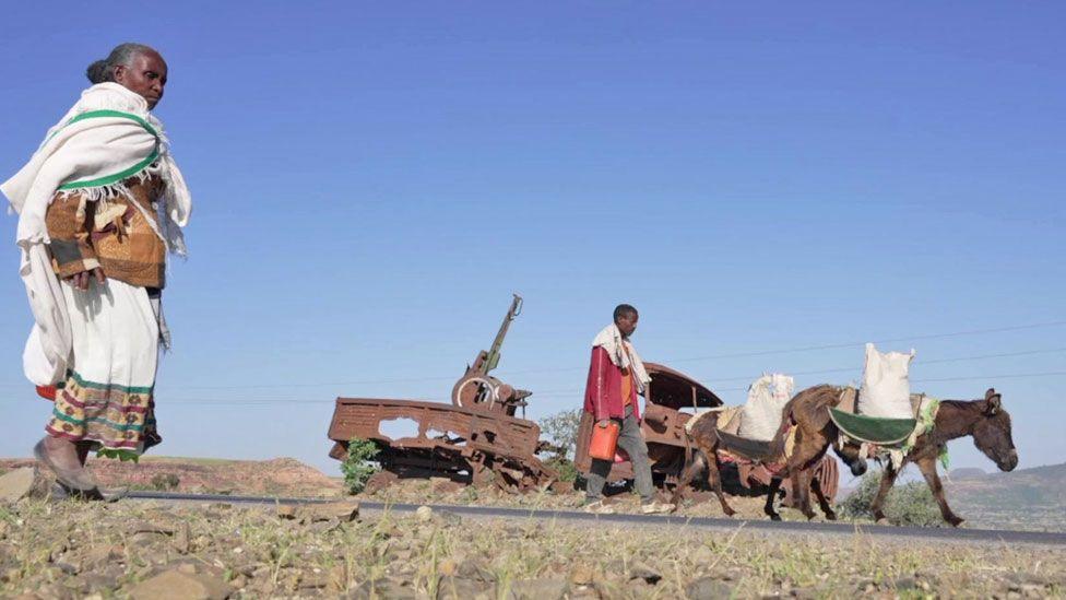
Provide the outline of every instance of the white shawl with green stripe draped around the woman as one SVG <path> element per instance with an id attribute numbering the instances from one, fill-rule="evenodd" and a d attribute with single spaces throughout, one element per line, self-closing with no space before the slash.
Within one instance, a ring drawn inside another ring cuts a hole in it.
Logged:
<path id="1" fill-rule="evenodd" d="M 46 249 L 45 215 L 56 192 L 78 192 L 93 200 L 127 196 L 123 181 L 158 174 L 166 183 L 156 233 L 176 254 L 185 254 L 181 227 L 189 222 L 192 199 L 170 156 L 163 123 L 149 113 L 139 94 L 117 83 L 100 83 L 48 130 L 45 141 L 14 177 L 0 185 L 19 213 L 20 274 L 36 321 L 23 353 L 26 377 L 51 385 L 67 370 L 70 321 L 62 289 Z M 140 208 L 137 202 L 134 205 Z"/>

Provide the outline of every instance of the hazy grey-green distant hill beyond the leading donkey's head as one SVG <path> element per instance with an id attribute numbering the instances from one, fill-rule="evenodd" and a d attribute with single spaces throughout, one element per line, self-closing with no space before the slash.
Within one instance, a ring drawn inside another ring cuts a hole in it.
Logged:
<path id="1" fill-rule="evenodd" d="M 1010 473 L 952 471 L 948 503 L 973 527 L 1066 531 L 1066 463 Z"/>

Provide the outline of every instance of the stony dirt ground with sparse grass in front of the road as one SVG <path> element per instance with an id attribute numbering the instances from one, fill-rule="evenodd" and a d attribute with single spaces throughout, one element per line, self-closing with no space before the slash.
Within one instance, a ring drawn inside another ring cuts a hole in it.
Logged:
<path id="1" fill-rule="evenodd" d="M 476 523 L 476 525 L 475 525 Z M 1066 551 L 743 529 L 357 517 L 311 508 L 23 499 L 0 507 L 0 597 L 1062 597 Z"/>

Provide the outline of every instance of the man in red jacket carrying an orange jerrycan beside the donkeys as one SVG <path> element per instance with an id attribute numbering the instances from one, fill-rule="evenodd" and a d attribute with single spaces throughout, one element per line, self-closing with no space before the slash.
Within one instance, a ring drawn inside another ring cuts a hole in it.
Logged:
<path id="1" fill-rule="evenodd" d="M 637 397 L 643 395 L 651 377 L 633 349 L 629 337 L 637 330 L 637 309 L 628 304 L 615 307 L 614 322 L 605 327 L 592 341 L 592 363 L 584 393 L 584 411 L 595 419 L 595 427 L 606 427 L 613 420 L 620 425 L 618 447 L 629 455 L 632 463 L 640 510 L 644 514 L 668 513 L 674 506 L 655 499 L 651 480 L 648 445 L 640 433 L 640 407 Z M 614 509 L 603 503 L 603 486 L 611 473 L 611 461 L 592 459 L 585 485 L 585 510 L 609 514 Z"/>

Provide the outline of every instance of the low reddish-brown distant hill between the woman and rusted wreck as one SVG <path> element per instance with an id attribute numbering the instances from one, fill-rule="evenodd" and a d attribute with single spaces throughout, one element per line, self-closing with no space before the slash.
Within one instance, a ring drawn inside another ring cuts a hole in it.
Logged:
<path id="1" fill-rule="evenodd" d="M 0 459 L 0 472 L 32 466 L 32 459 Z M 143 457 L 140 463 L 91 459 L 105 486 L 139 490 L 170 489 L 187 493 L 256 494 L 271 496 L 334 496 L 335 479 L 294 458 L 227 460 L 216 458 Z"/>

